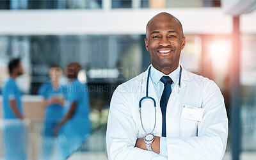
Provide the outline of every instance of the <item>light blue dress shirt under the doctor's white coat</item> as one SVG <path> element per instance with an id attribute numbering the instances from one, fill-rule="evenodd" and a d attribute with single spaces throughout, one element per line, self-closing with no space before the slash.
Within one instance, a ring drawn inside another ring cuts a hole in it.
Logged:
<path id="1" fill-rule="evenodd" d="M 156 95 L 157 95 L 157 100 L 158 100 L 159 104 L 160 104 L 161 96 L 162 96 L 163 91 L 164 91 L 164 84 L 160 81 L 161 77 L 169 76 L 172 79 L 173 83 L 172 83 L 171 87 L 172 87 L 172 90 L 173 90 L 175 84 L 179 83 L 179 74 L 180 74 L 180 65 L 172 73 L 170 73 L 168 75 L 165 75 L 163 72 L 160 72 L 159 70 L 157 70 L 153 66 L 151 67 L 150 78 L 153 82 L 153 86 L 155 88 Z M 167 157 L 166 137 L 161 137 L 160 138 L 160 153 L 159 154 L 161 156 Z"/>

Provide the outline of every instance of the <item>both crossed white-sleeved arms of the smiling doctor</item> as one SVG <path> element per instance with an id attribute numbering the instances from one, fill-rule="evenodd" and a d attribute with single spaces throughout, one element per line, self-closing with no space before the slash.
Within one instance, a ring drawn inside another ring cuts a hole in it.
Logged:
<path id="1" fill-rule="evenodd" d="M 203 93 L 204 116 L 197 136 L 166 138 L 168 157 L 173 159 L 222 159 L 227 146 L 228 120 L 223 97 L 216 84 L 207 84 Z M 118 89 L 116 89 L 118 90 Z M 159 137 L 152 143 L 154 152 L 146 150 L 143 138 L 131 113 L 131 93 L 113 94 L 107 128 L 109 159 L 164 159 L 159 153 Z M 135 115 L 136 116 L 136 115 Z"/>

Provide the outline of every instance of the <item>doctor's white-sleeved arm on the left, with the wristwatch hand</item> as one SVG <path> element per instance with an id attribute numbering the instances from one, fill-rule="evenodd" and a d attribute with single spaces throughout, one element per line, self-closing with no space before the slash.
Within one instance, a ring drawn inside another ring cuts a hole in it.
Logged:
<path id="1" fill-rule="evenodd" d="M 116 89 L 118 90 L 118 89 Z M 129 93 L 125 93 L 129 94 Z M 152 143 L 154 152 L 146 149 L 143 138 L 138 138 L 136 123 L 134 122 L 124 94 L 114 93 L 109 111 L 106 143 L 109 159 L 166 159 L 159 154 L 160 138 L 156 137 Z"/>

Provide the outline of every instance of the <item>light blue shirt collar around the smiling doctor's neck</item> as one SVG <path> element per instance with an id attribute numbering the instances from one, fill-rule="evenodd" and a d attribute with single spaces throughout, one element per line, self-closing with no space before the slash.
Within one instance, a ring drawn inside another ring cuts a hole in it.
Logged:
<path id="1" fill-rule="evenodd" d="M 153 65 L 151 65 L 151 66 L 152 67 L 150 68 L 150 77 L 154 81 L 155 84 L 157 84 L 160 81 L 161 77 L 163 77 L 163 76 L 169 76 L 172 79 L 174 84 L 176 84 L 177 81 L 179 81 L 180 65 L 175 70 L 173 70 L 172 73 L 170 73 L 168 75 L 157 70 L 156 68 L 153 67 Z"/>

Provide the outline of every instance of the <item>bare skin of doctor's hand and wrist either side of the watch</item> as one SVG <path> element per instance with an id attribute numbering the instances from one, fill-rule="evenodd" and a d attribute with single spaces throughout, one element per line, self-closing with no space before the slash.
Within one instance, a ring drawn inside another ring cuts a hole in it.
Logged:
<path id="1" fill-rule="evenodd" d="M 135 147 L 141 148 L 143 150 L 147 150 L 144 138 L 138 138 L 136 141 Z M 155 137 L 154 141 L 152 141 L 151 148 L 157 154 L 160 153 L 160 137 L 158 136 Z"/>

